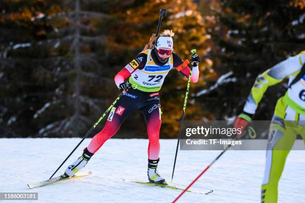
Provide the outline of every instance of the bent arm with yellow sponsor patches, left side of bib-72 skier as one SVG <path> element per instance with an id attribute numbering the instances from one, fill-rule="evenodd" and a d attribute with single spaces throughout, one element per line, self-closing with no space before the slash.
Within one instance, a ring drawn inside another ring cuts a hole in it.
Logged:
<path id="1" fill-rule="evenodd" d="M 132 73 L 137 69 L 143 69 L 147 61 L 147 54 L 141 52 L 138 56 L 127 64 L 114 78 L 117 87 L 119 88 L 121 83 L 124 83 Z"/>

